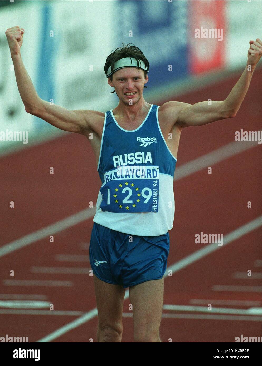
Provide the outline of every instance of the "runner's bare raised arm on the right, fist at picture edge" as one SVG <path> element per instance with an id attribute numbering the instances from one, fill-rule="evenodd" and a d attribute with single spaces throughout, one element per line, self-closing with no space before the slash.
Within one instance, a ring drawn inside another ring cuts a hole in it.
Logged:
<path id="1" fill-rule="evenodd" d="M 210 100 L 196 104 L 167 102 L 166 110 L 169 111 L 169 115 L 175 116 L 174 123 L 181 127 L 203 126 L 236 116 L 246 96 L 255 67 L 262 56 L 262 41 L 257 38 L 256 41 L 249 43 L 247 66 L 229 96 L 224 101 Z"/>

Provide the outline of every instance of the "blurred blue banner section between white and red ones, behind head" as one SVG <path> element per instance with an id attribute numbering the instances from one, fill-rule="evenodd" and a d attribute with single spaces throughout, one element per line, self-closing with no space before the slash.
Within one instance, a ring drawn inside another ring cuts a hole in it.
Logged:
<path id="1" fill-rule="evenodd" d="M 188 74 L 188 1 L 117 3 L 115 44 L 133 43 L 150 63 L 148 86 L 159 87 Z"/>

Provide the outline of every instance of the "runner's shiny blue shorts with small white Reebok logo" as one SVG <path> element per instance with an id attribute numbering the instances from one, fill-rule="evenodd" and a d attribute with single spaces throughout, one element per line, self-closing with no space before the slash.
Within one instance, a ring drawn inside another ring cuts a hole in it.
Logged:
<path id="1" fill-rule="evenodd" d="M 169 254 L 169 232 L 130 235 L 94 223 L 89 246 L 93 273 L 100 280 L 130 287 L 163 277 Z"/>

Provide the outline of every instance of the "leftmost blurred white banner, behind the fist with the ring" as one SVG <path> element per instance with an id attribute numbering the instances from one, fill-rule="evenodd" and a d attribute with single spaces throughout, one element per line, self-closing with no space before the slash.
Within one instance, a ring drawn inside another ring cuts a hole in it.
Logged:
<path id="1" fill-rule="evenodd" d="M 42 7 L 38 6 L 23 6 L 23 4 L 12 6 L 10 4 L 9 7 L 0 8 L 0 131 L 6 129 L 29 131 L 29 137 L 30 134 L 37 133 L 39 126 L 34 123 L 34 116 L 26 113 L 16 85 L 15 71 L 5 30 L 15 25 L 25 29 L 26 38 L 21 50 L 22 59 L 34 85 L 37 86 L 38 81 L 41 80 L 39 70 L 44 69 L 44 61 L 48 62 L 48 60 L 43 60 L 43 64 L 39 67 L 38 55 L 40 54 L 41 42 L 39 36 L 36 36 L 36 31 L 32 31 L 39 29 L 37 25 L 41 23 L 41 14 Z M 50 78 L 48 78 L 48 82 L 53 83 Z M 40 94 L 42 97 L 48 97 L 44 90 L 44 88 L 39 90 Z M 42 124 L 47 125 L 44 121 L 41 121 Z M 5 149 L 7 145 L 14 146 L 15 144 L 14 141 L 0 141 L 0 150 Z M 19 142 L 19 145 L 25 146 L 22 142 Z"/>

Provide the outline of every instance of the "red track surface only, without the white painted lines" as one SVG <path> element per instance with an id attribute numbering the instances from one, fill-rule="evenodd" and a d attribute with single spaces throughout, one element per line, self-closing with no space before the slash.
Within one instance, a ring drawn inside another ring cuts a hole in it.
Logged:
<path id="1" fill-rule="evenodd" d="M 261 129 L 261 76 L 257 69 L 250 89 L 234 119 L 222 120 L 198 128 L 186 128 L 181 135 L 177 167 L 234 140 L 234 132 Z M 176 100 L 196 103 L 211 98 L 223 100 L 236 79 L 205 87 Z M 145 94 L 146 97 L 146 94 Z M 172 100 L 172 98 L 170 98 Z M 148 101 L 148 100 L 147 100 Z M 148 101 L 149 102 L 149 101 Z M 151 101 L 162 104 L 159 101 Z M 49 174 L 49 168 L 54 174 Z M 91 146 L 85 137 L 69 134 L 0 159 L 1 246 L 19 239 L 96 203 L 100 179 Z M 176 174 L 176 173 L 175 173 Z M 220 233 L 224 236 L 261 215 L 261 144 L 200 170 L 174 183 L 176 212 L 170 233 L 167 266 L 205 245 L 195 244 L 195 234 Z M 15 208 L 10 208 L 14 201 Z M 247 208 L 251 201 L 252 208 Z M 92 218 L 39 240 L 0 258 L 1 294 L 42 294 L 54 310 L 82 311 L 96 307 L 93 278 L 88 274 L 32 273 L 32 266 L 86 267 L 89 262 L 58 262 L 56 254 L 88 255 Z M 165 280 L 164 304 L 191 305 L 191 299 L 259 300 L 261 292 L 213 291 L 213 285 L 261 286 L 261 280 L 235 279 L 235 272 L 262 272 L 254 267 L 261 258 L 261 227 L 226 247 L 173 273 Z M 212 245 L 212 244 L 211 244 Z M 14 277 L 10 277 L 14 270 Z M 72 287 L 22 287 L 4 285 L 4 280 L 63 280 Z M 124 313 L 130 313 L 124 302 Z M 201 305 L 207 306 L 207 304 Z M 260 305 L 261 306 L 261 305 Z M 218 307 L 214 305 L 214 307 Z M 220 306 L 247 309 L 251 306 Z M 3 308 L 0 308 L 0 310 Z M 44 309 L 43 309 L 44 310 Z M 173 314 L 199 314 L 166 311 Z M 203 314 L 203 313 L 201 313 Z M 207 314 L 209 315 L 209 314 Z M 222 315 L 222 314 L 221 314 Z M 0 336 L 28 336 L 37 341 L 68 324 L 77 316 L 1 314 Z M 254 315 L 253 315 L 254 318 Z M 96 340 L 97 317 L 56 338 L 55 342 L 88 342 Z M 261 322 L 163 318 L 160 334 L 163 342 L 234 342 L 236 336 L 261 336 Z M 133 341 L 132 318 L 123 317 L 123 342 Z"/>

